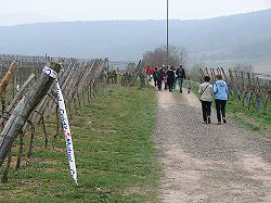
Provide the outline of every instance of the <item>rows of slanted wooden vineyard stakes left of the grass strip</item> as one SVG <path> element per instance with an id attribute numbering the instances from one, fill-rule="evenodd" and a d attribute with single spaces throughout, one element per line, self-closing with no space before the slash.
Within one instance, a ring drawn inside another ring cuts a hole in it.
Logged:
<path id="1" fill-rule="evenodd" d="M 59 74 L 57 81 L 72 117 L 104 87 L 108 62 L 107 59 L 0 55 L 1 182 L 8 181 L 11 168 L 16 172 L 31 162 L 35 140 L 43 140 L 47 149 L 49 143 L 54 145 L 62 132 L 55 81 L 42 72 L 44 66 Z M 55 125 L 48 126 L 46 118 L 54 115 Z M 48 127 L 54 129 L 54 135 L 48 134 Z"/>

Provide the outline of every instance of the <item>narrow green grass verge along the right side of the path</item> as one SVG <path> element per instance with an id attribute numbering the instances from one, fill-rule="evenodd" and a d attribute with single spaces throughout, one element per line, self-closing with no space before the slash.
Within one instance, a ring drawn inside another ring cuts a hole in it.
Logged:
<path id="1" fill-rule="evenodd" d="M 198 84 L 192 84 L 192 91 L 198 96 Z M 248 110 L 247 106 L 242 105 L 241 101 L 236 102 L 230 98 L 227 102 L 227 112 L 237 124 L 271 138 L 271 102 L 266 111 L 257 111 L 255 107 Z"/>

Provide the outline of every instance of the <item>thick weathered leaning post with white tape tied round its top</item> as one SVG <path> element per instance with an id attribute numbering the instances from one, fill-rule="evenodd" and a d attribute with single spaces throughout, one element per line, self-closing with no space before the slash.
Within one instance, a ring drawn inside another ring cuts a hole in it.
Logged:
<path id="1" fill-rule="evenodd" d="M 61 65 L 57 63 L 51 63 L 50 67 L 59 73 Z M 12 115 L 0 134 L 0 166 L 12 148 L 14 140 L 23 129 L 29 115 L 34 112 L 40 101 L 42 101 L 53 83 L 54 78 L 42 73 L 33 90 L 18 102 L 15 110 L 12 112 Z"/>

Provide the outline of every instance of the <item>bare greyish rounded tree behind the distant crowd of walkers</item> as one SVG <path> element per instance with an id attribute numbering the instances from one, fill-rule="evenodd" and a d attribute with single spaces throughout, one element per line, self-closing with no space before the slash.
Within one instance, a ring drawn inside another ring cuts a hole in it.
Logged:
<path id="1" fill-rule="evenodd" d="M 179 66 L 185 65 L 188 61 L 188 51 L 183 47 L 169 46 L 168 64 Z M 146 51 L 143 54 L 143 63 L 145 65 L 160 66 L 167 64 L 167 47 L 160 46 L 154 51 Z"/>

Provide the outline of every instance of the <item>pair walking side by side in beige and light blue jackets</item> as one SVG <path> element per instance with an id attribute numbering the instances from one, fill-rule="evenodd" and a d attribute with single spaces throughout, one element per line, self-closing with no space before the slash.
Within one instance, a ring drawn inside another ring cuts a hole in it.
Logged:
<path id="1" fill-rule="evenodd" d="M 205 124 L 210 124 L 210 112 L 212 97 L 215 97 L 216 111 L 218 125 L 222 122 L 227 123 L 225 119 L 225 104 L 228 99 L 228 85 L 222 80 L 221 75 L 215 76 L 216 81 L 211 85 L 210 77 L 205 76 L 204 83 L 199 86 L 199 101 L 202 102 L 203 120 Z"/>

